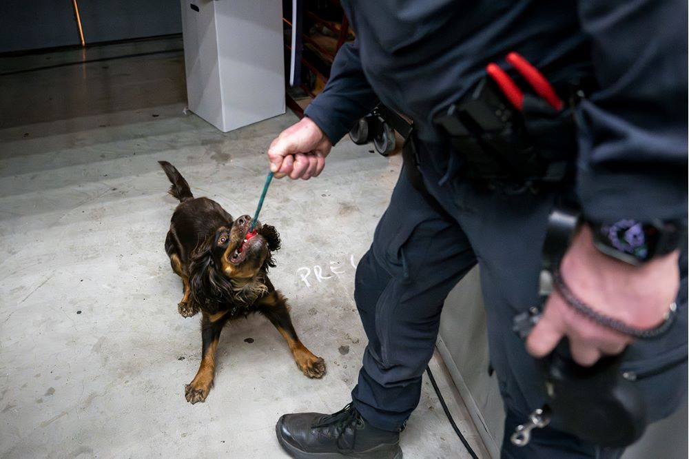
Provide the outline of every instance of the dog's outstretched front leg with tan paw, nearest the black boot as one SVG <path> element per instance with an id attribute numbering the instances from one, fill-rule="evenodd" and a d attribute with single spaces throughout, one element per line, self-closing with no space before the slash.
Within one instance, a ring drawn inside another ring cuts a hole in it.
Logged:
<path id="1" fill-rule="evenodd" d="M 285 297 L 274 290 L 260 299 L 258 310 L 275 325 L 282 338 L 285 338 L 294 361 L 302 373 L 309 378 L 321 378 L 325 374 L 325 361 L 313 355 L 297 336 L 289 317 L 289 307 Z"/>

